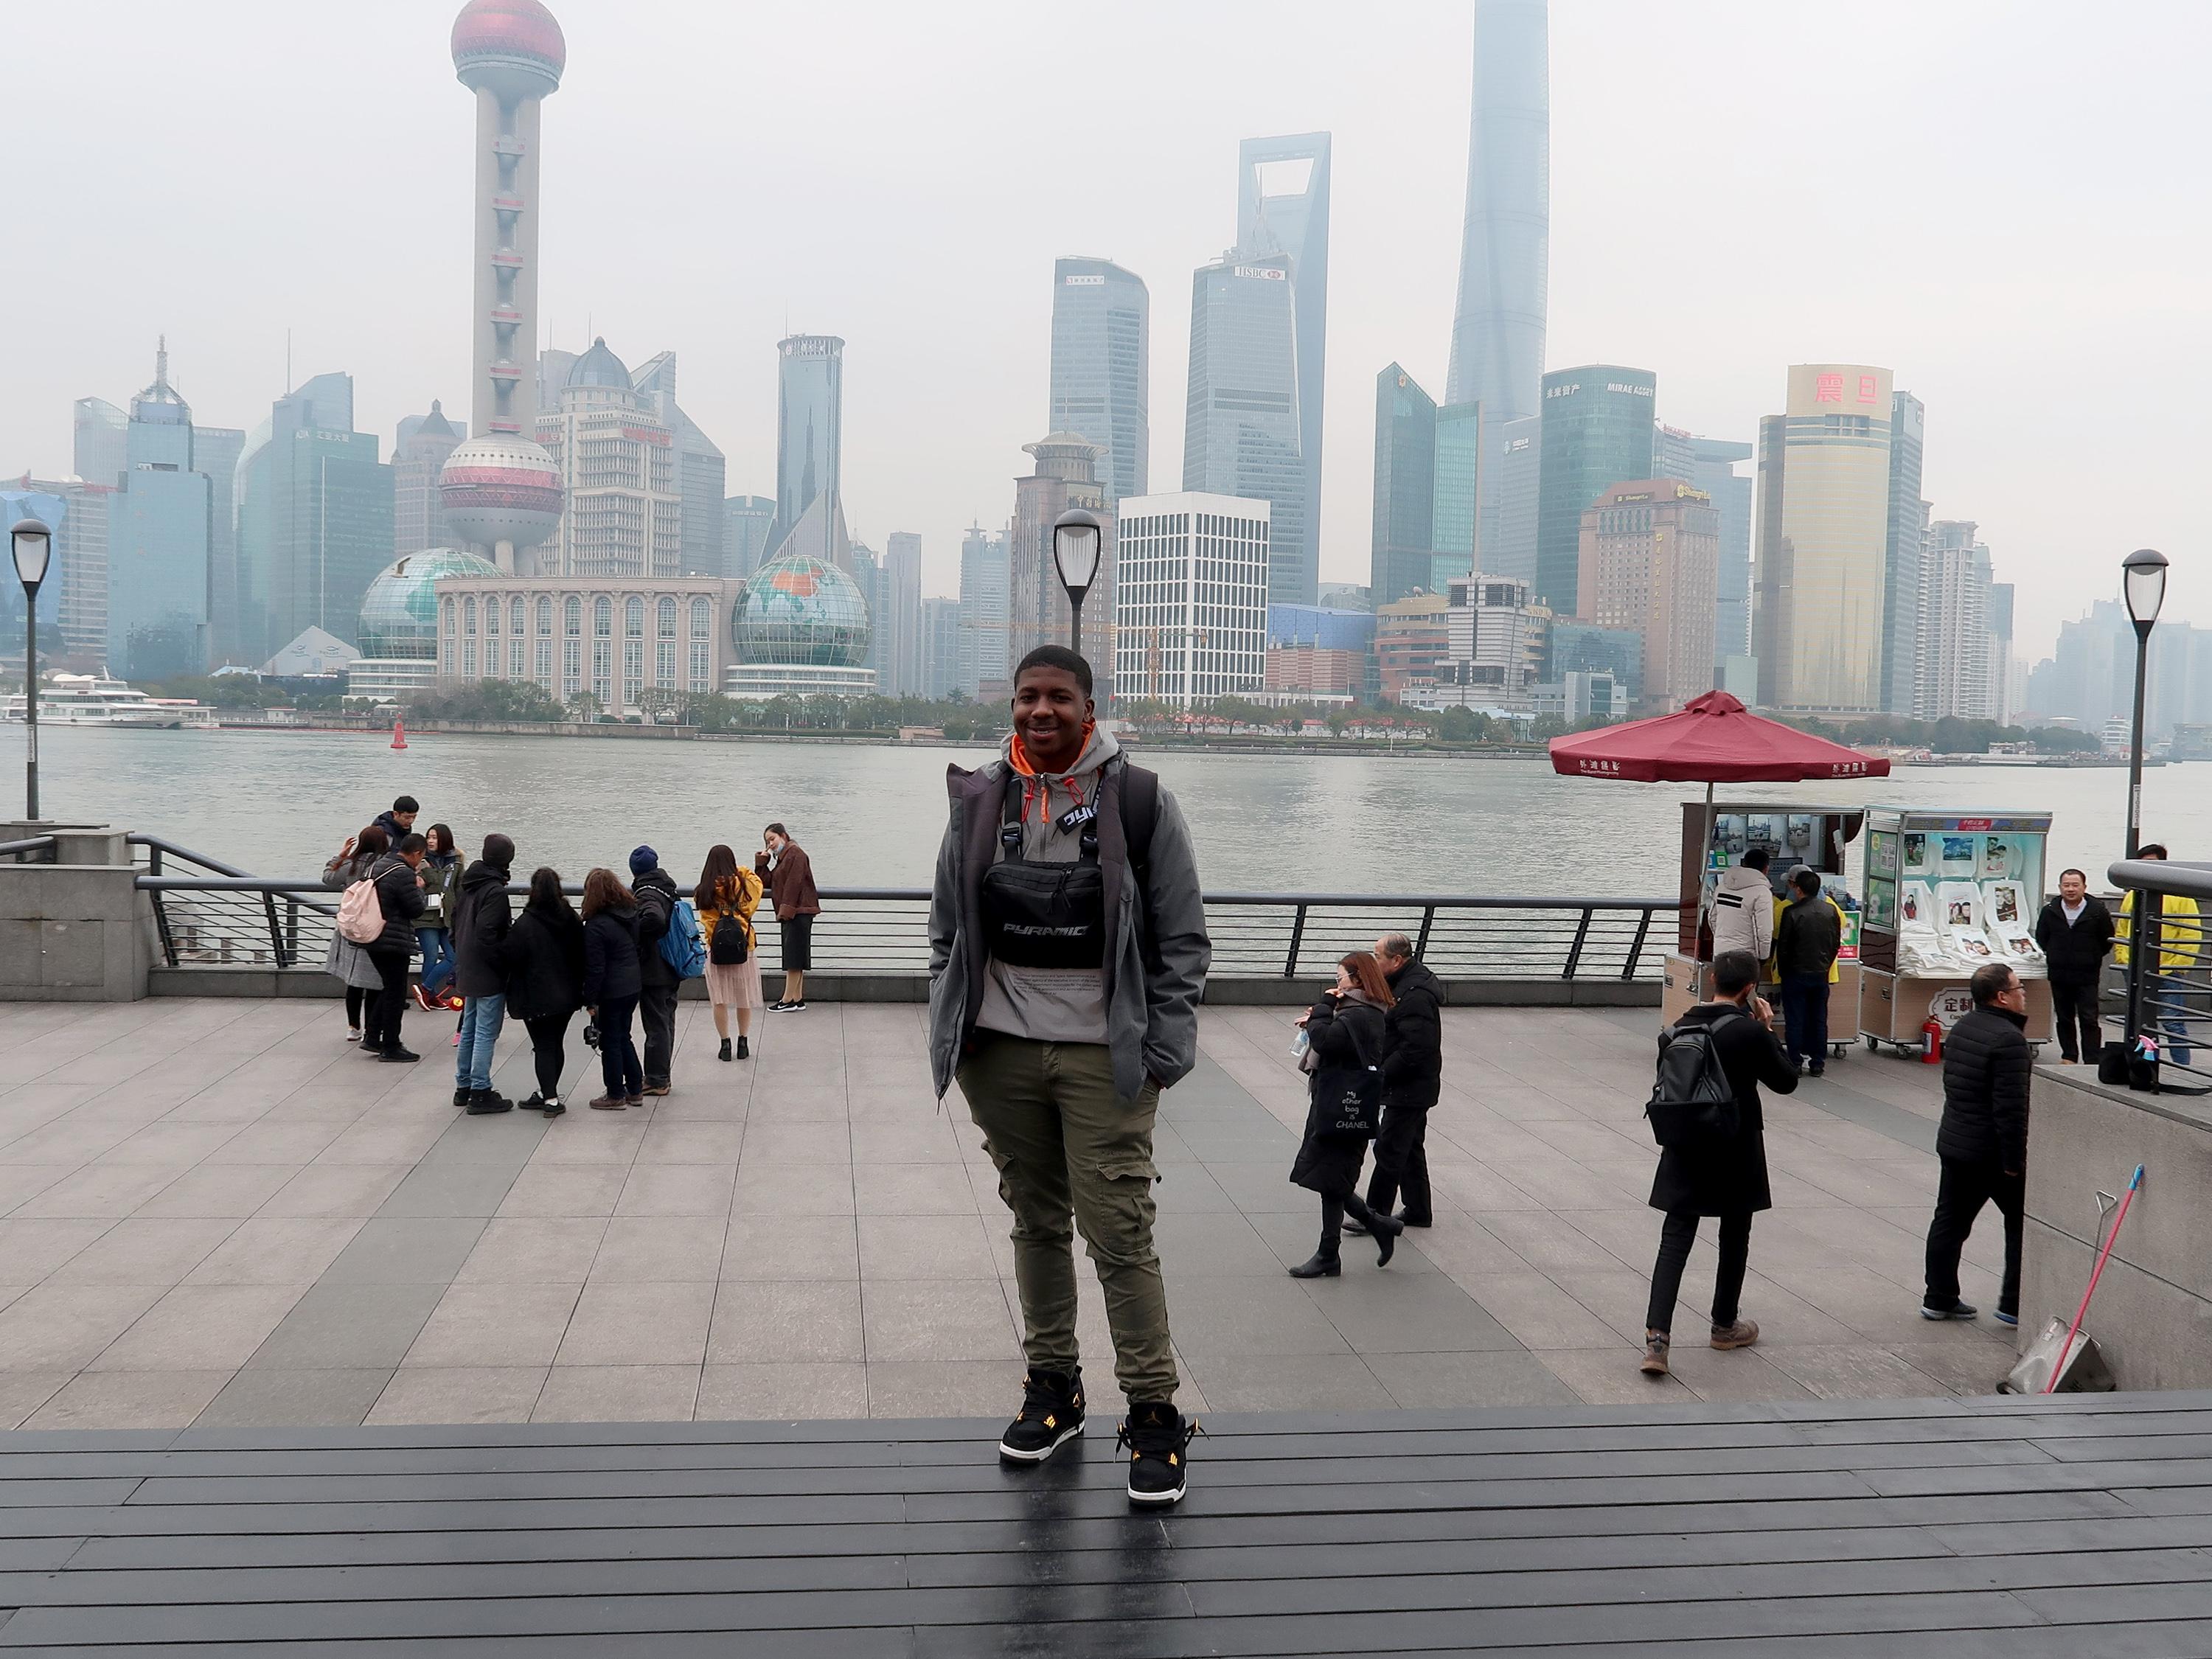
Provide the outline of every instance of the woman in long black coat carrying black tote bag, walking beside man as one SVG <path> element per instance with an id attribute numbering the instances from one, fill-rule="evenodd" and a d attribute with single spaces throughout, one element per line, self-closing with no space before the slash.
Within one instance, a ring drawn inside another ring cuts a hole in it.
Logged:
<path id="1" fill-rule="evenodd" d="M 1336 1279 L 1345 1265 L 1338 1241 L 1345 1210 L 1374 1234 L 1387 1265 L 1405 1223 L 1367 1208 L 1360 1197 L 1360 1164 L 1383 1115 L 1383 1013 L 1391 1006 L 1389 980 L 1371 951 L 1352 951 L 1336 964 L 1336 984 L 1298 1020 L 1305 1026 L 1305 1057 L 1312 1104 L 1305 1139 L 1290 1166 L 1294 1186 L 1321 1194 L 1321 1248 L 1292 1279 Z"/>

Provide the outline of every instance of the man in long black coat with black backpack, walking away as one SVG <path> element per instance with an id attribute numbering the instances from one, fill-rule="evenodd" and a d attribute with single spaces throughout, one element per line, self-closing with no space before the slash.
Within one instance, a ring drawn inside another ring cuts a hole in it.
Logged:
<path id="1" fill-rule="evenodd" d="M 1759 982 L 1759 958 L 1750 951 L 1721 951 L 1712 958 L 1712 1002 L 1699 1002 L 1674 1026 L 1659 1033 L 1659 1093 L 1670 1088 L 1668 1048 L 1688 1033 L 1710 1033 L 1710 1051 L 1728 1077 L 1732 1110 L 1721 1108 L 1719 1126 L 1670 1133 L 1661 1121 L 1661 1102 L 1652 1102 L 1652 1124 L 1672 1141 L 1659 1152 L 1659 1175 L 1652 1179 L 1652 1208 L 1666 1212 L 1659 1228 L 1659 1263 L 1652 1267 L 1652 1301 L 1644 1314 L 1644 1374 L 1668 1374 L 1668 1332 L 1674 1325 L 1674 1298 L 1681 1294 L 1681 1270 L 1690 1263 L 1701 1217 L 1721 1219 L 1721 1265 L 1712 1281 L 1712 1345 L 1750 1347 L 1759 1325 L 1736 1318 L 1743 1294 L 1743 1272 L 1752 1254 L 1752 1214 L 1772 1210 L 1767 1192 L 1765 1119 L 1759 1110 L 1759 1084 L 1778 1095 L 1796 1091 L 1796 1066 L 1767 1031 L 1774 1011 L 1752 987 Z M 1703 1044 L 1697 1044 L 1703 1046 Z M 1725 1119 L 1734 1119 L 1728 1126 Z"/>

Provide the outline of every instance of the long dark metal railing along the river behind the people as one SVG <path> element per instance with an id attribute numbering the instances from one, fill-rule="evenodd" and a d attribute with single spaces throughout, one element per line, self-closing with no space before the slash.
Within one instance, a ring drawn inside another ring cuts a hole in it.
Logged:
<path id="1" fill-rule="evenodd" d="M 321 967 L 336 894 L 316 880 L 248 876 L 159 836 L 137 885 L 153 900 L 168 967 Z M 524 896 L 522 885 L 507 889 Z M 571 885 L 580 894 L 582 885 Z M 925 887 L 823 889 L 814 967 L 823 973 L 925 973 Z M 1405 933 L 1447 980 L 1657 980 L 1672 898 L 1471 898 L 1458 894 L 1208 894 L 1217 980 L 1327 978 L 1378 933 Z M 781 969 L 772 918 L 757 916 L 763 971 Z"/>

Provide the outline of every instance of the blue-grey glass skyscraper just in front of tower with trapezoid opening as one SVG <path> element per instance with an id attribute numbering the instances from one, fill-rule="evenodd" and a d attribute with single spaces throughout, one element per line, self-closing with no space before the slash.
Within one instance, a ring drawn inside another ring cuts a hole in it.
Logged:
<path id="1" fill-rule="evenodd" d="M 1272 504 L 1267 597 L 1312 604 L 1290 254 L 1230 252 L 1190 283 L 1183 491 Z"/>

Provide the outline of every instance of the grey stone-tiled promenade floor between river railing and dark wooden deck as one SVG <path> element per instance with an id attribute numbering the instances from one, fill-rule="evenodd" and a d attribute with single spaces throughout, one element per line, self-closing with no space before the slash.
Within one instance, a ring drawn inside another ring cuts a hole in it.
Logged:
<path id="1" fill-rule="evenodd" d="M 1763 1340 L 1637 1374 L 1657 1212 L 1655 1013 L 1455 1009 L 1438 1223 L 1387 1270 L 1314 1245 L 1285 1179 L 1292 1009 L 1208 1009 L 1161 1108 L 1159 1245 L 1192 1413 L 1986 1394 L 1993 1323 L 1918 1318 L 1936 1071 L 1854 1051 L 1767 1102 Z M 1020 1347 L 980 1137 L 931 1102 L 922 1011 L 816 1002 L 714 1062 L 684 1004 L 646 1110 L 462 1117 L 447 1018 L 418 1066 L 330 1002 L 0 1006 L 0 1427 L 1004 1418 Z M 520 1033 L 495 1084 L 529 1091 Z M 1986 1234 L 1986 1237 L 1984 1237 Z M 1964 1294 L 1995 1298 L 1995 1217 Z M 1710 1230 L 1683 1318 L 1710 1292 Z M 1093 1413 L 1119 1407 L 1084 1270 Z"/>

